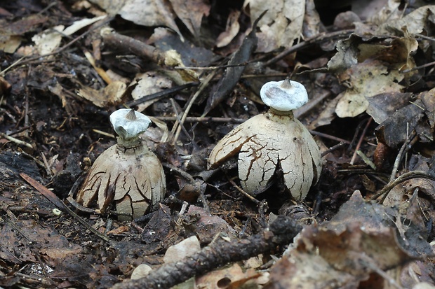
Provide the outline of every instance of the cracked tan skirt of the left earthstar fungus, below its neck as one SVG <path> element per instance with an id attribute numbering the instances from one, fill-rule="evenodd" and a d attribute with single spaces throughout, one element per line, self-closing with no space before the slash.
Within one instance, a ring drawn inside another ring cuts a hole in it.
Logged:
<path id="1" fill-rule="evenodd" d="M 166 181 L 157 157 L 148 148 L 124 152 L 117 146 L 95 160 L 76 201 L 104 212 L 113 202 L 118 213 L 142 216 L 149 206 L 163 199 Z"/>

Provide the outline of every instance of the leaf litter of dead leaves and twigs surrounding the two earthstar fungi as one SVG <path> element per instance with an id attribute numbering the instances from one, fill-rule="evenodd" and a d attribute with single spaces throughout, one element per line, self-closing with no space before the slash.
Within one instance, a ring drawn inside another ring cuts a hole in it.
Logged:
<path id="1" fill-rule="evenodd" d="M 434 288 L 435 8 L 354 2 L 5 5 L 0 286 Z M 307 87 L 295 115 L 323 153 L 303 202 L 279 177 L 243 195 L 234 159 L 206 169 L 287 76 Z M 132 222 L 74 202 L 128 104 L 156 124 L 168 188 Z"/>

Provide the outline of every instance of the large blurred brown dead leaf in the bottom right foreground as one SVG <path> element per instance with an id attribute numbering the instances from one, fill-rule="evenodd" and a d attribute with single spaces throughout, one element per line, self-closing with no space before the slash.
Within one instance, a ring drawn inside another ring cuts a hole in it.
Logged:
<path id="1" fill-rule="evenodd" d="M 397 213 L 365 202 L 359 191 L 354 192 L 332 220 L 304 228 L 295 247 L 272 267 L 266 288 L 361 288 L 368 280 L 382 282 L 379 272 L 422 258 L 421 251 L 398 241 L 394 218 L 399 223 L 403 218 Z M 430 248 L 427 241 L 422 243 Z"/>

